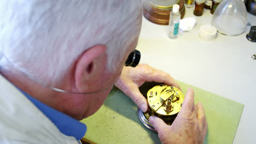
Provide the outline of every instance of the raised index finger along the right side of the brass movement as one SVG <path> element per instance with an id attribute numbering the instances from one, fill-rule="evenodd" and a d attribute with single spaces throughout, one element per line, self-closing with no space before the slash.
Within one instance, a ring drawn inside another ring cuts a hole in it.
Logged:
<path id="1" fill-rule="evenodd" d="M 187 94 L 186 94 L 185 99 L 182 104 L 181 111 L 189 110 L 192 112 L 194 105 L 195 105 L 194 104 L 194 91 L 192 88 L 188 88 Z"/>

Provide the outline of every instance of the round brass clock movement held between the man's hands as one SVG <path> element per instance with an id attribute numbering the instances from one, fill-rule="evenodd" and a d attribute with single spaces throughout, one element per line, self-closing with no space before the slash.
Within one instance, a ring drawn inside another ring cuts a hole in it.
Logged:
<path id="1" fill-rule="evenodd" d="M 145 94 L 144 97 L 146 97 Z M 149 89 L 146 98 L 149 109 L 147 112 L 138 109 L 138 115 L 141 122 L 153 131 L 155 131 L 153 125 L 149 123 L 150 116 L 157 116 L 166 124 L 171 125 L 184 101 L 184 95 L 177 87 L 162 83 Z"/>

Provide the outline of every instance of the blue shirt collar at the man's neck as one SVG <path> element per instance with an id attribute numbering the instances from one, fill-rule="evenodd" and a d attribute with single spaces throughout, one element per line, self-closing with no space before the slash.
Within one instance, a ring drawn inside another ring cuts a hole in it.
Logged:
<path id="1" fill-rule="evenodd" d="M 18 88 L 19 89 L 19 88 Z M 21 89 L 19 89 L 21 91 Z M 86 133 L 86 125 L 79 122 L 77 119 L 69 117 L 65 113 L 57 111 L 48 105 L 41 103 L 39 100 L 31 97 L 27 93 L 21 91 L 26 97 L 38 107 L 40 111 L 53 122 L 61 133 L 74 136 L 75 139 L 80 140 Z"/>

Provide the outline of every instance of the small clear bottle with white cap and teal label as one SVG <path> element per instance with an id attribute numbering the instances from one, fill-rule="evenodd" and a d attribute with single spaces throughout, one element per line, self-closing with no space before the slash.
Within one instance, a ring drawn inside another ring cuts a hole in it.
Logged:
<path id="1" fill-rule="evenodd" d="M 170 13 L 169 32 L 170 39 L 176 39 L 179 33 L 179 20 L 181 20 L 181 13 L 179 13 L 179 5 L 174 4 Z"/>

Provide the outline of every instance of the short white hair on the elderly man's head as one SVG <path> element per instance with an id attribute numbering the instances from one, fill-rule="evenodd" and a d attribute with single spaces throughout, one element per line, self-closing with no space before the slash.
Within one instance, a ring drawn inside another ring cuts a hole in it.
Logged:
<path id="1" fill-rule="evenodd" d="M 115 70 L 138 37 L 141 1 L 1 0 L 0 17 L 4 56 L 28 76 L 55 83 L 98 44 L 107 46 L 106 64 Z"/>

